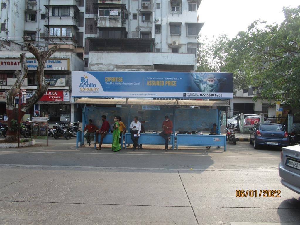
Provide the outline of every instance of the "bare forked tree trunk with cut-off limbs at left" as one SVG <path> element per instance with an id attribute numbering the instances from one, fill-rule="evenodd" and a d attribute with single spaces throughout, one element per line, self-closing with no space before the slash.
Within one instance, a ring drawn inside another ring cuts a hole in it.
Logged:
<path id="1" fill-rule="evenodd" d="M 29 52 L 31 52 L 38 61 L 38 68 L 37 68 L 38 88 L 35 94 L 32 95 L 32 97 L 26 101 L 26 104 L 24 104 L 21 107 L 20 118 L 22 118 L 26 113 L 26 111 L 29 110 L 35 103 L 37 103 L 47 91 L 49 83 L 46 83 L 45 73 L 44 73 L 46 61 L 58 49 L 58 46 L 53 46 L 47 51 L 41 52 L 31 44 L 26 44 L 26 47 L 29 50 Z M 24 79 L 26 78 L 28 73 L 25 53 L 22 53 L 20 55 L 20 63 L 21 63 L 21 70 L 15 72 L 15 75 L 17 77 L 15 84 L 9 91 L 5 91 L 6 111 L 7 111 L 9 128 L 12 126 L 12 120 L 18 121 L 18 109 L 15 107 L 15 97 L 19 93 L 22 83 L 24 82 Z M 6 141 L 14 142 L 17 140 L 18 131 L 10 131 L 9 128 L 6 135 Z"/>

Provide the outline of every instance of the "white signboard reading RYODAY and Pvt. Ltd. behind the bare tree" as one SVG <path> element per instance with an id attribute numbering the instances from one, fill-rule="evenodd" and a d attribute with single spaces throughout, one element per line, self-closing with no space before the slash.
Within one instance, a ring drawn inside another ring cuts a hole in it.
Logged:
<path id="1" fill-rule="evenodd" d="M 27 58 L 28 70 L 37 70 L 38 61 Z M 19 58 L 0 59 L 0 70 L 19 70 L 21 67 Z M 69 70 L 69 59 L 48 59 L 45 70 Z"/>

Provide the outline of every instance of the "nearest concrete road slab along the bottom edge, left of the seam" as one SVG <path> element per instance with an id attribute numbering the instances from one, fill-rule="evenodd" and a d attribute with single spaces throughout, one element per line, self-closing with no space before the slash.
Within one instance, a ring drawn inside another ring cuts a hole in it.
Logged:
<path id="1" fill-rule="evenodd" d="M 190 207 L 41 202 L 1 202 L 0 223 L 5 225 L 197 225 Z"/>

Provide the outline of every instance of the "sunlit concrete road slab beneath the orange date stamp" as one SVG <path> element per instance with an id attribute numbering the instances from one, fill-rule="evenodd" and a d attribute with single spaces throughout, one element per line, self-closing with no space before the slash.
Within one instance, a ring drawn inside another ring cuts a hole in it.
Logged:
<path id="1" fill-rule="evenodd" d="M 277 208 L 291 196 L 299 196 L 280 183 L 277 171 L 203 171 L 180 173 L 192 206 Z M 280 197 L 236 197 L 236 190 L 280 190 Z"/>

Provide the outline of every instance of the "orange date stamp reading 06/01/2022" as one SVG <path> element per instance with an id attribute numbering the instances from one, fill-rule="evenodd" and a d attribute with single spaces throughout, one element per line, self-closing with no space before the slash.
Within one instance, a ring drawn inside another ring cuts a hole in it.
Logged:
<path id="1" fill-rule="evenodd" d="M 235 191 L 235 196 L 237 198 L 280 198 L 280 190 L 251 190 L 251 189 L 241 189 Z"/>

